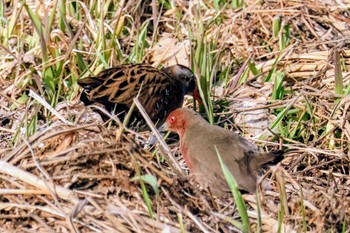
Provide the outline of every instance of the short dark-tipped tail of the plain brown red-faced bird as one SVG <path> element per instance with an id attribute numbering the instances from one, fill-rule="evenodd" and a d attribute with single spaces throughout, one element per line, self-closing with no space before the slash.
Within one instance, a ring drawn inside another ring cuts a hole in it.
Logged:
<path id="1" fill-rule="evenodd" d="M 262 153 L 251 158 L 250 166 L 257 171 L 263 167 L 273 166 L 279 163 L 283 158 L 284 151 L 274 150 L 269 153 Z"/>

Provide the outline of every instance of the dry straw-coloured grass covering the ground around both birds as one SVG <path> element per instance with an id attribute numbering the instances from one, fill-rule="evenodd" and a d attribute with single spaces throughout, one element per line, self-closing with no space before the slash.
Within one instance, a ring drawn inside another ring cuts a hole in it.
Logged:
<path id="1" fill-rule="evenodd" d="M 176 9 L 153 6 L 157 11 L 152 11 L 153 2 L 121 1 L 124 10 L 117 10 L 113 16 L 106 14 L 104 22 L 98 15 L 101 12 L 89 12 L 90 8 L 82 19 L 81 15 L 67 16 L 63 23 L 70 25 L 71 34 L 60 31 L 62 21 L 55 15 L 46 38 L 47 61 L 43 61 L 40 43 L 31 47 L 39 39 L 26 11 L 17 21 L 1 24 L 1 231 L 238 231 L 226 219 L 239 220 L 232 198 L 212 198 L 191 180 L 178 179 L 161 153 L 142 149 L 149 132 L 125 132 L 117 137 L 116 125 L 103 123 L 78 101 L 76 79 L 89 75 L 87 69 L 97 72 L 108 65 L 129 62 L 132 56 L 134 62 L 162 64 L 162 59 L 170 56 L 176 57 L 176 62 L 188 63 L 183 50 L 181 56 L 166 55 L 177 50 L 152 46 L 170 37 L 188 46 L 185 51 L 192 54 L 189 60 L 202 79 L 205 73 L 196 60 L 196 49 L 204 39 L 215 44 L 215 49 L 206 52 L 218 55 L 207 66 L 213 75 L 212 98 L 218 123 L 238 127 L 248 137 L 252 134 L 249 128 L 260 126 L 238 120 L 233 124 L 232 119 L 259 110 L 267 116 L 265 126 L 278 137 L 261 129 L 252 140 L 264 149 L 283 146 L 288 151 L 281 165 L 266 174 L 271 190 L 258 196 L 244 195 L 252 230 L 259 231 L 260 227 L 258 197 L 263 232 L 350 232 L 349 3 L 246 1 L 243 9 L 226 6 L 215 10 L 210 1 L 202 5 L 174 1 Z M 35 1 L 28 4 L 43 21 L 48 19 L 45 13 L 54 7 L 53 3 L 45 7 Z M 17 2 L 3 5 L 7 6 L 6 18 L 12 19 L 13 10 L 19 9 Z M 288 25 L 289 33 L 284 28 L 273 34 L 276 17 L 281 17 L 282 28 Z M 139 29 L 147 19 L 143 43 L 150 48 L 135 52 L 133 48 L 140 44 Z M 13 30 L 6 34 L 12 23 Z M 104 27 L 98 28 L 101 23 Z M 115 47 L 103 48 L 103 42 L 111 43 L 113 38 L 106 33 L 109 37 L 103 40 L 101 32 L 113 31 L 118 25 L 124 30 L 115 34 L 119 45 L 115 42 Z M 57 51 L 60 54 L 55 57 Z M 341 59 L 340 71 L 336 51 Z M 86 69 L 77 54 L 82 54 Z M 61 72 L 55 70 L 57 92 L 50 94 L 44 70 L 59 65 L 63 68 Z M 227 76 L 221 78 L 225 69 L 229 69 Z M 339 72 L 342 93 L 335 88 Z M 283 81 L 276 87 L 278 74 Z M 31 97 L 22 101 L 29 89 L 71 123 L 63 123 L 58 114 L 49 113 Z M 256 105 L 245 105 L 247 102 Z M 242 104 L 237 107 L 234 103 Z M 191 101 L 186 105 L 190 107 Z M 178 144 L 170 143 L 170 147 L 183 165 Z M 146 184 L 152 211 L 139 179 L 146 174 L 155 177 L 160 188 L 158 196 Z"/>

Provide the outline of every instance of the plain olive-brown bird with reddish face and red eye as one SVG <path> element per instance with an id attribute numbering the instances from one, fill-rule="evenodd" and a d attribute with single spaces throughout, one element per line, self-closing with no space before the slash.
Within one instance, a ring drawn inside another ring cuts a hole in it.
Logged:
<path id="1" fill-rule="evenodd" d="M 262 153 L 241 135 L 211 125 L 198 113 L 188 108 L 178 108 L 167 117 L 164 127 L 180 137 L 180 151 L 190 174 L 202 187 L 222 197 L 231 191 L 218 159 L 228 167 L 238 188 L 254 194 L 258 172 L 283 159 L 284 151 Z M 217 148 L 217 151 L 216 151 Z"/>

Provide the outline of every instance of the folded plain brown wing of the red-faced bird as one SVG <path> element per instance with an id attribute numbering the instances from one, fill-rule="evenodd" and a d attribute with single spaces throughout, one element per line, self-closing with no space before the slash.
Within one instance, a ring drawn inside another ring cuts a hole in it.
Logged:
<path id="1" fill-rule="evenodd" d="M 238 185 L 247 191 L 255 192 L 256 172 L 251 169 L 250 156 L 247 155 L 257 153 L 257 148 L 240 135 L 217 126 L 204 125 L 198 127 L 198 130 L 201 132 L 198 131 L 197 135 L 206 135 L 205 137 L 197 136 L 197 139 L 191 140 L 194 142 L 193 144 L 201 145 L 201 147 L 197 147 L 196 153 L 200 169 L 210 171 L 213 175 L 218 176 L 217 182 L 226 182 L 215 150 L 216 147 Z M 192 135 L 192 137 L 194 136 Z"/>

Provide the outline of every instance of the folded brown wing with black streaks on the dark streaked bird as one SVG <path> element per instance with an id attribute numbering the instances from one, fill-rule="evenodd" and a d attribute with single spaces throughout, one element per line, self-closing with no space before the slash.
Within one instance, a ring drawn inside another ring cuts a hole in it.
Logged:
<path id="1" fill-rule="evenodd" d="M 100 72 L 96 77 L 79 80 L 91 101 L 100 100 L 131 106 L 140 91 L 145 104 L 153 96 L 169 93 L 174 80 L 149 65 L 120 65 Z M 169 95 L 169 94 L 168 94 Z M 155 104 L 155 103 L 154 103 Z"/>

